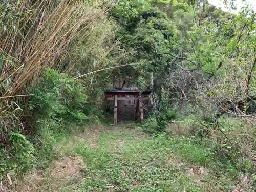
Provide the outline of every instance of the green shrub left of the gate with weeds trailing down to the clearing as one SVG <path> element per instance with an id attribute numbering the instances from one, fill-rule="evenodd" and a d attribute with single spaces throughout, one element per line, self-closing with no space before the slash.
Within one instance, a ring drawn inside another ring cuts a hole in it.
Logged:
<path id="1" fill-rule="evenodd" d="M 100 111 L 87 103 L 85 87 L 68 74 L 46 70 L 31 93 L 34 95 L 29 106 L 36 117 L 34 127 L 43 142 L 35 139 L 37 156 L 45 156 L 46 162 L 54 157 L 55 144 L 79 131 L 78 126 L 84 129 L 86 123 L 100 122 Z"/>

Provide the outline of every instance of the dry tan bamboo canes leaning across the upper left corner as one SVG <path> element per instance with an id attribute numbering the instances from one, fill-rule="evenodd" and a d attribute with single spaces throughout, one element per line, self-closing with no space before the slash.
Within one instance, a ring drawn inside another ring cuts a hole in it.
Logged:
<path id="1" fill-rule="evenodd" d="M 98 2 L 90 7 L 81 4 L 65 0 L 2 4 L 6 13 L 1 18 L 1 74 L 10 78 L 8 86 L 2 86 L 3 97 L 19 94 L 25 84 L 36 83 L 42 69 L 59 67 L 77 36 L 86 38 L 87 30 L 105 10 Z"/>

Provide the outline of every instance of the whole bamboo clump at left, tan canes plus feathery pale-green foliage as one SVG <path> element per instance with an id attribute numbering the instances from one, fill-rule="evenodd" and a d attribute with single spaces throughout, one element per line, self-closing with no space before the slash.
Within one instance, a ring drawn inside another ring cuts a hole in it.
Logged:
<path id="1" fill-rule="evenodd" d="M 110 8 L 104 0 L 0 4 L 1 127 L 24 129 L 20 123 L 24 112 L 18 101 L 26 98 L 26 86 L 36 86 L 44 69 L 79 76 L 118 64 L 115 55 L 125 53 L 114 35 L 118 26 L 106 18 Z M 94 84 L 102 84 L 95 79 L 90 76 L 84 81 L 90 91 Z M 23 117 L 22 122 L 26 122 Z"/>

